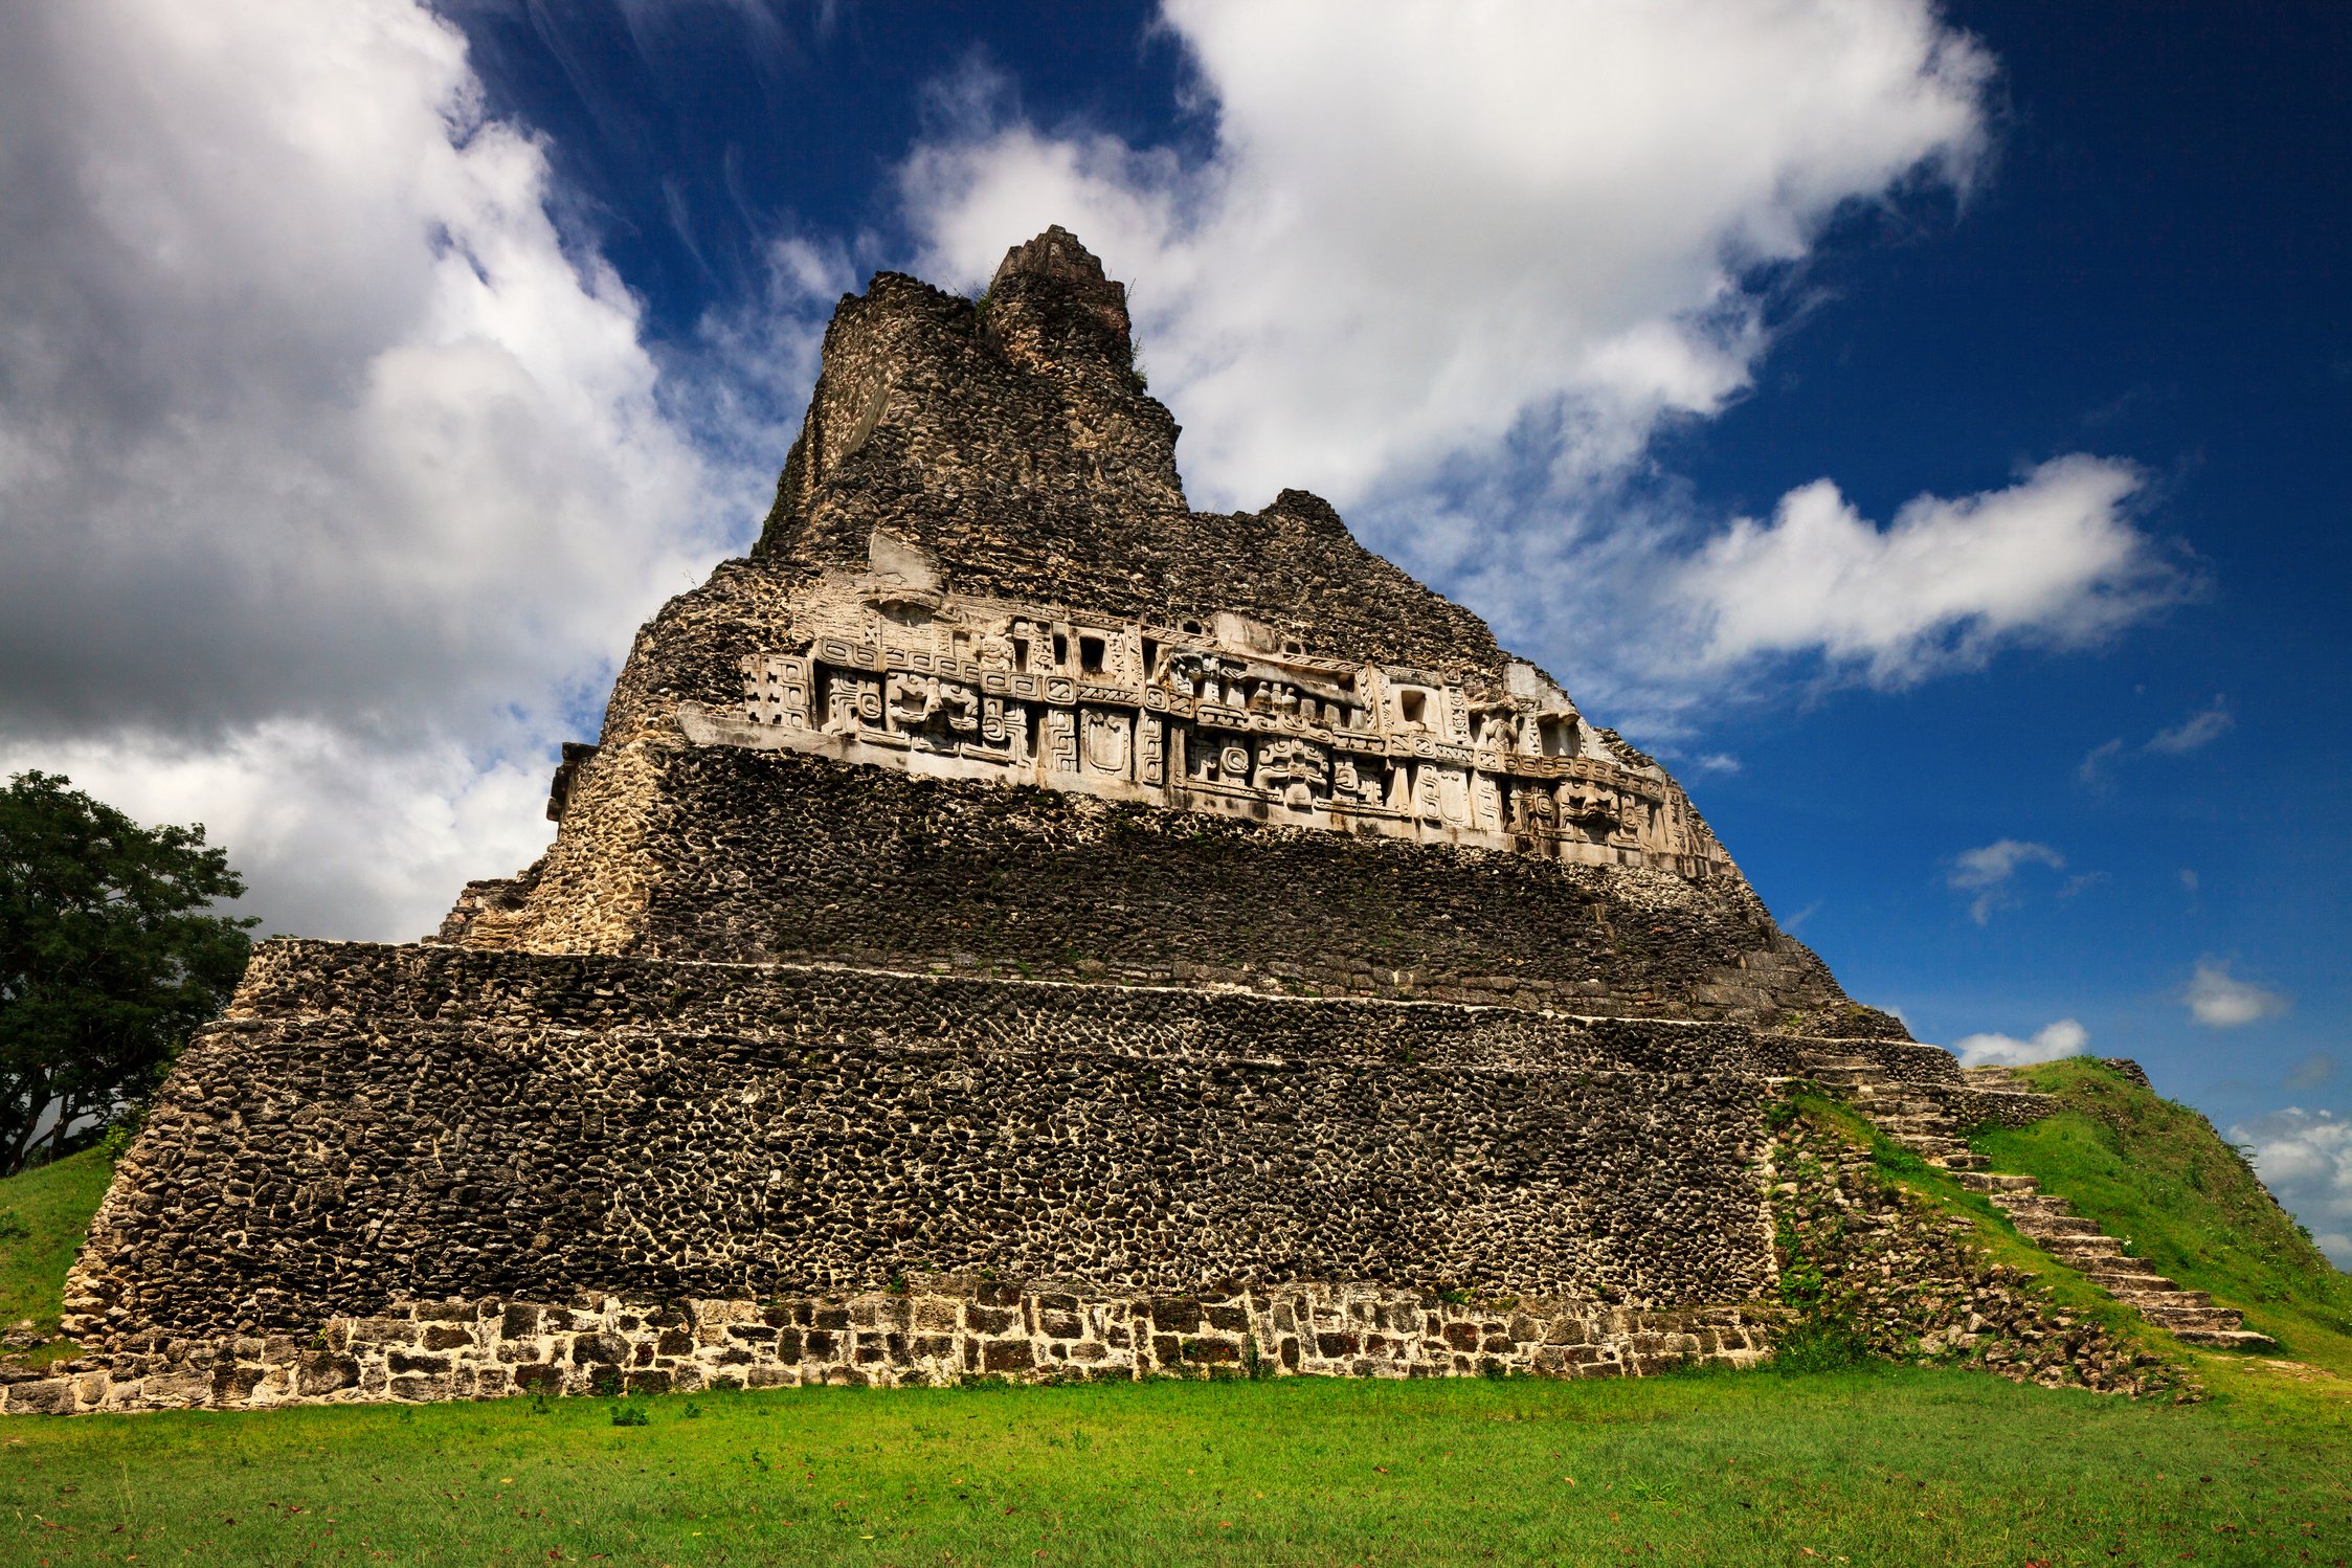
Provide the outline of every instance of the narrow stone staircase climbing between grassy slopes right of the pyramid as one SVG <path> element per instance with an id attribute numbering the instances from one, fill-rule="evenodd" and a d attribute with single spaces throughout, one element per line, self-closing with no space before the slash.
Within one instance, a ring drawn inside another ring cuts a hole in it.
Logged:
<path id="1" fill-rule="evenodd" d="M 1891 1079 L 1867 1056 L 1806 1051 L 1804 1070 L 1823 1088 L 1851 1100 L 1896 1145 L 1952 1171 L 1962 1187 L 1992 1199 L 2020 1237 L 2176 1340 L 2223 1349 L 2277 1349 L 2277 1340 L 2246 1328 L 2244 1314 L 2234 1307 L 2216 1307 L 2204 1291 L 2183 1291 L 2164 1274 L 2147 1272 L 2138 1258 L 2124 1253 L 2122 1241 L 2098 1227 L 2098 1220 L 2074 1213 L 2067 1199 L 2042 1192 L 2042 1182 L 2032 1175 L 1987 1171 L 1992 1161 L 1969 1147 L 1940 1098 Z"/>

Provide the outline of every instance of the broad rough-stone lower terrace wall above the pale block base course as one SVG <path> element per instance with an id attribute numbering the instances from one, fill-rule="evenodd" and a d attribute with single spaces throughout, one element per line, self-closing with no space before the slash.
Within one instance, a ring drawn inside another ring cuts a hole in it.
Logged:
<path id="1" fill-rule="evenodd" d="M 268 943 L 68 1331 L 997 1269 L 1696 1305 L 1769 1279 L 1771 1037 L 1526 1009 Z"/>

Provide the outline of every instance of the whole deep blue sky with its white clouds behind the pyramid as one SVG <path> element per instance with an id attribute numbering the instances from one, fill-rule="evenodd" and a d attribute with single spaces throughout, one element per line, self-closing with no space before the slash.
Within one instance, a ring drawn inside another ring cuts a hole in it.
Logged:
<path id="1" fill-rule="evenodd" d="M 1329 494 L 1853 994 L 2352 1260 L 2345 7 L 207 9 L 0 21 L 0 762 L 273 929 L 536 853 L 833 296 L 1065 221 L 1195 503 Z"/>

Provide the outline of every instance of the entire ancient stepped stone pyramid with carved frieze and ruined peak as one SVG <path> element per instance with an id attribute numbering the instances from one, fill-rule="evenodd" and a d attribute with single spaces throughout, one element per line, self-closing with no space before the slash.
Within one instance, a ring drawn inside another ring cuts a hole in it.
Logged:
<path id="1" fill-rule="evenodd" d="M 261 945 L 183 1053 L 59 1408 L 1752 1361 L 1790 1079 L 1955 1164 L 2037 1114 L 1327 503 L 1190 510 L 1176 435 L 1068 230 L 844 296 L 548 853 Z"/>

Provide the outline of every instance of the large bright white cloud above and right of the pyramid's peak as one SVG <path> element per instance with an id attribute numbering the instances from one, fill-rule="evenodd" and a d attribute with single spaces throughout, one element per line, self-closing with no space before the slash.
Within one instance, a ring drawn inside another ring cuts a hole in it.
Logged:
<path id="1" fill-rule="evenodd" d="M 924 263 L 983 282 L 1070 223 L 1136 280 L 1214 503 L 1395 465 L 1538 414 L 1602 465 L 1748 386 L 1743 270 L 1842 205 L 1966 179 L 1992 61 L 1917 0 L 1167 0 L 1204 165 L 1044 134 L 985 82 L 903 169 Z M 1571 400 L 1573 409 L 1562 409 Z"/>

